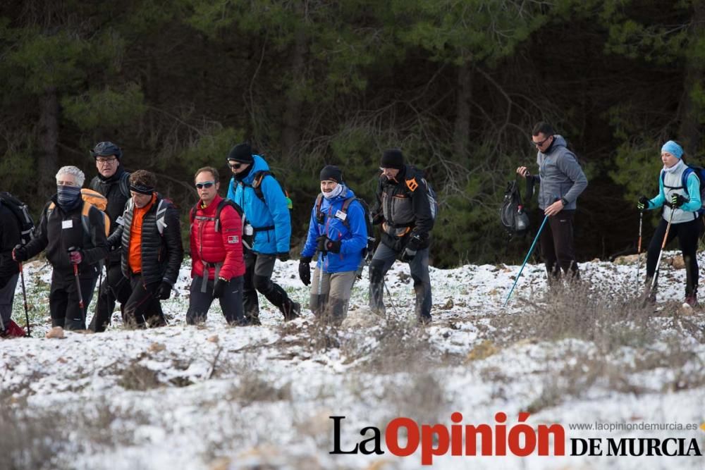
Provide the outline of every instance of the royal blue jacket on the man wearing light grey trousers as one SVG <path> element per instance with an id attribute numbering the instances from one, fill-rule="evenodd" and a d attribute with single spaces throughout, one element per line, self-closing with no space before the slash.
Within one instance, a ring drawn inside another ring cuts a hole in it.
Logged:
<path id="1" fill-rule="evenodd" d="M 309 223 L 306 244 L 301 252 L 301 256 L 313 256 L 316 252 L 316 238 L 319 235 L 326 235 L 331 240 L 341 240 L 341 252 L 326 254 L 323 259 L 323 271 L 326 273 L 342 273 L 344 271 L 357 271 L 357 267 L 362 262 L 362 250 L 367 247 L 367 225 L 364 222 L 364 209 L 362 204 L 353 201 L 348 206 L 348 213 L 345 217 L 350 228 L 345 226 L 341 220 L 343 202 L 349 197 L 355 197 L 355 193 L 347 187 L 338 197 L 333 199 L 323 198 L 321 202 L 321 212 L 324 214 L 323 223 L 316 220 L 316 204 L 314 202 L 311 211 L 311 221 Z M 338 216 L 336 216 L 338 214 Z M 321 266 L 321 254 L 318 255 L 318 266 Z"/>

